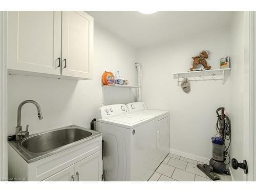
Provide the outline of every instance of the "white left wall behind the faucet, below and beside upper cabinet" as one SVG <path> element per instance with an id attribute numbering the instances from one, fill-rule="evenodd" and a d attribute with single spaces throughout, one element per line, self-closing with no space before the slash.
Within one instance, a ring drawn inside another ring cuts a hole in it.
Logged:
<path id="1" fill-rule="evenodd" d="M 30 134 L 76 124 L 90 127 L 102 103 L 101 75 L 105 70 L 115 72 L 136 83 L 135 50 L 95 23 L 94 26 L 94 79 L 58 80 L 52 78 L 8 76 L 8 135 L 15 133 L 17 107 L 26 99 L 41 106 L 44 119 L 38 120 L 36 108 L 28 103 L 22 109 L 22 125 L 29 124 Z M 106 102 L 129 102 L 129 90 L 111 88 L 104 94 Z M 119 98 L 121 99 L 119 99 Z M 134 94 L 132 94 L 134 101 Z"/>

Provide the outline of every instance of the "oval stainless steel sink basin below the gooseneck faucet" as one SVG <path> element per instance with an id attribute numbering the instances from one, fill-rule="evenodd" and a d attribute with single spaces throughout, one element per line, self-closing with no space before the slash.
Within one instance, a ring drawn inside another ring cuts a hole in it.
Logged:
<path id="1" fill-rule="evenodd" d="M 62 129 L 29 137 L 20 142 L 20 145 L 25 147 L 29 152 L 43 153 L 87 138 L 91 135 L 91 132 L 77 128 Z"/>

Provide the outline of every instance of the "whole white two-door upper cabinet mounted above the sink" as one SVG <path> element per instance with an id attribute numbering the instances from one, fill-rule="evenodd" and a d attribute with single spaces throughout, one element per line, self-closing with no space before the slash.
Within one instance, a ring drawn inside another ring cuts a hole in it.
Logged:
<path id="1" fill-rule="evenodd" d="M 10 11 L 9 74 L 93 78 L 93 17 L 83 11 Z"/>

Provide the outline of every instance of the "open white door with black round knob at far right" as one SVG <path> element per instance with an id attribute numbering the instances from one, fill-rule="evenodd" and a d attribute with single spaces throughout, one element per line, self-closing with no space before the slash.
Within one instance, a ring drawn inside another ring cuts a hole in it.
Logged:
<path id="1" fill-rule="evenodd" d="M 250 162 L 249 141 L 249 12 L 236 12 L 231 25 L 231 62 L 230 71 L 230 119 L 231 146 L 230 156 L 239 162 Z M 234 181 L 246 181 L 251 175 L 245 175 L 242 169 L 231 169 Z"/>

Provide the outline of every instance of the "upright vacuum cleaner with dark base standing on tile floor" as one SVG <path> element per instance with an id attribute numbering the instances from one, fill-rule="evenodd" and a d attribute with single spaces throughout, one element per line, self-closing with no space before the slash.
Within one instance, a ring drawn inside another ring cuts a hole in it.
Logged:
<path id="1" fill-rule="evenodd" d="M 221 114 L 219 112 L 221 111 Z M 230 121 L 227 115 L 225 115 L 225 108 L 221 107 L 216 110 L 217 123 L 216 131 L 218 132 L 214 137 L 211 138 L 212 143 L 212 156 L 207 164 L 198 164 L 197 167 L 202 170 L 212 180 L 218 180 L 220 177 L 215 173 L 230 175 L 226 169 L 226 165 L 230 163 L 230 156 L 228 154 L 228 148 L 230 146 Z M 217 136 L 218 135 L 218 136 Z M 226 141 L 226 142 L 225 142 Z M 226 143 L 228 145 L 226 146 Z M 225 163 L 228 157 L 228 162 Z"/>

